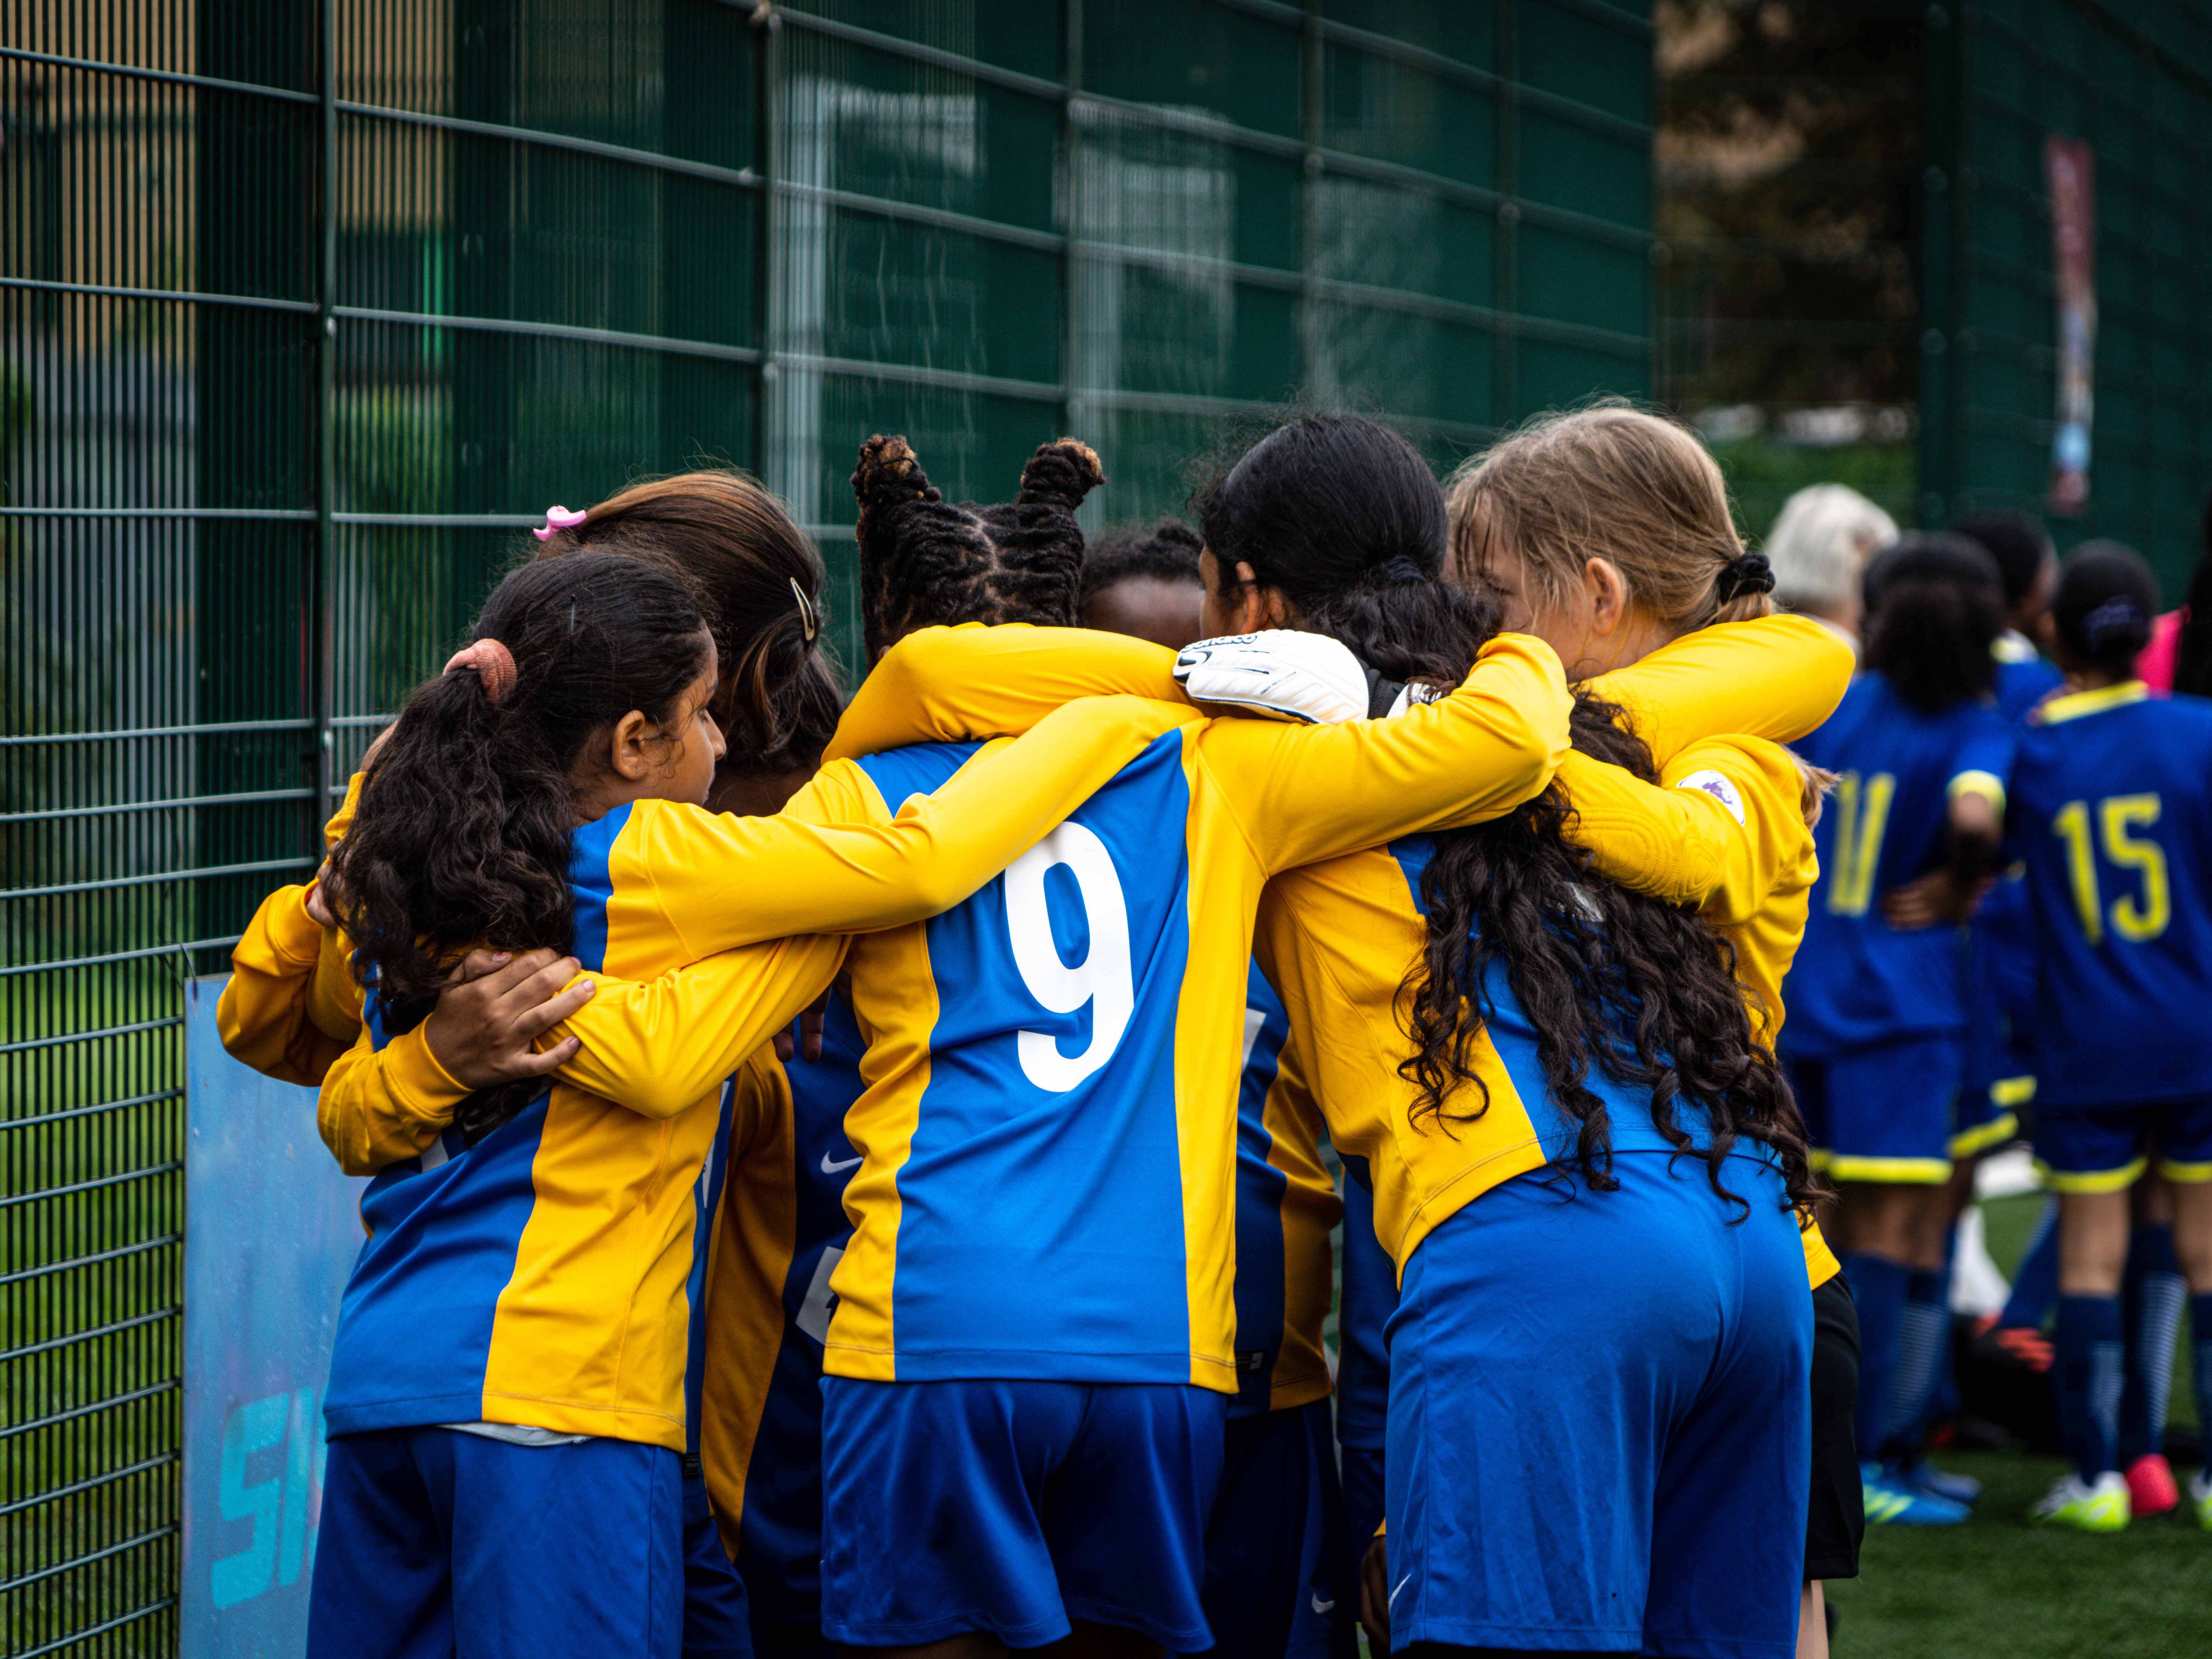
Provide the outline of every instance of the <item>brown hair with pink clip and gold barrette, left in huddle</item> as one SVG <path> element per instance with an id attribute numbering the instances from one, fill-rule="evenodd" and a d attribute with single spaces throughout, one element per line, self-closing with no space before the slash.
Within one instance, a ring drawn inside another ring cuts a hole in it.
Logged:
<path id="1" fill-rule="evenodd" d="M 690 588 L 714 635 L 714 719 L 730 759 L 776 754 L 790 739 L 783 690 L 821 639 L 823 562 L 774 495 L 734 469 L 646 478 L 540 538 L 535 557 L 624 553 Z"/>

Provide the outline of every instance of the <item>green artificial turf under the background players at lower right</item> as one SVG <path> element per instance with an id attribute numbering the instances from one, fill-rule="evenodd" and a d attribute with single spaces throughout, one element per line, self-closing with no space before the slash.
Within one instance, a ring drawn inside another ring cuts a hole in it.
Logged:
<path id="1" fill-rule="evenodd" d="M 1827 1586 L 1836 1659 L 2179 1659 L 2212 1650 L 2212 1533 L 2188 1513 L 2088 1537 L 2031 1526 L 2057 1458 L 1933 1462 L 1984 1482 L 1964 1526 L 1869 1526 L 1858 1577 Z M 2185 1471 L 2183 1471 L 2185 1478 Z"/>

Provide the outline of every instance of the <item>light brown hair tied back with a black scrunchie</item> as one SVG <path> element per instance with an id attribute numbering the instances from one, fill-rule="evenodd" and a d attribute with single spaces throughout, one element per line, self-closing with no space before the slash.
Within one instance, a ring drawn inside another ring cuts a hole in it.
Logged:
<path id="1" fill-rule="evenodd" d="M 1774 613 L 1774 577 L 1743 551 L 1719 462 L 1666 416 L 1621 400 L 1537 416 L 1460 462 L 1444 495 L 1462 582 L 1506 546 L 1551 602 L 1586 560 L 1606 560 L 1674 633 Z"/>

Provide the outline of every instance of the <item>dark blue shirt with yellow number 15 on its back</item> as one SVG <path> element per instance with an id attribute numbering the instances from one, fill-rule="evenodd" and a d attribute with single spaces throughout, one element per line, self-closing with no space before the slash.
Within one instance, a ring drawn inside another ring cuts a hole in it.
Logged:
<path id="1" fill-rule="evenodd" d="M 2212 1095 L 2212 701 L 2055 697 L 2013 770 L 2035 909 L 2035 1108 Z"/>

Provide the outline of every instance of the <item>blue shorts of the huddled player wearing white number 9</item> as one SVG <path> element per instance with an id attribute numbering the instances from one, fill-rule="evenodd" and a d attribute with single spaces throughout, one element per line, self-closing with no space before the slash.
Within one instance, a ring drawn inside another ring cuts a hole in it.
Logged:
<path id="1" fill-rule="evenodd" d="M 823 1378 L 823 1635 L 1040 1648 L 1086 1621 L 1212 1646 L 1228 1411 L 1172 1383 Z"/>

